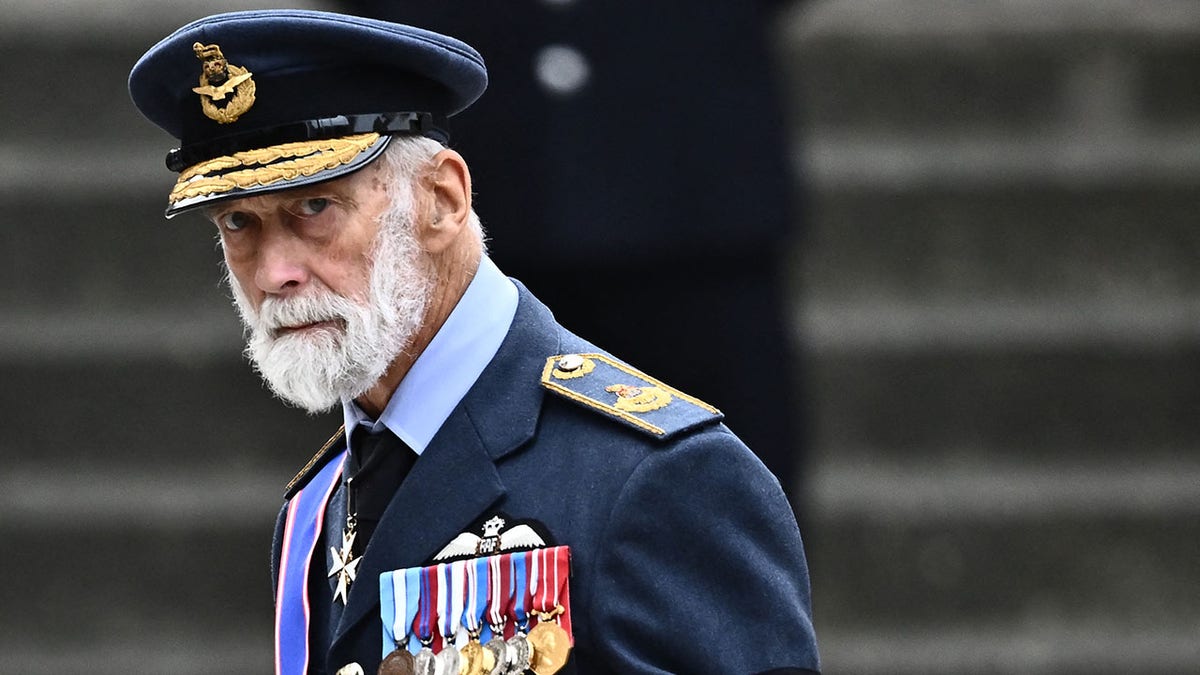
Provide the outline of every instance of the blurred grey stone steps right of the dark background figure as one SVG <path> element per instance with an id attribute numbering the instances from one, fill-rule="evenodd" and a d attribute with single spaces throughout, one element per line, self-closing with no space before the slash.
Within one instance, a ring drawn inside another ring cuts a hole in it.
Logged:
<path id="1" fill-rule="evenodd" d="M 1200 671 L 1200 5 L 810 2 L 829 673 Z"/>

